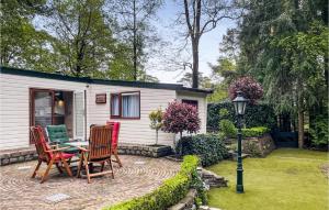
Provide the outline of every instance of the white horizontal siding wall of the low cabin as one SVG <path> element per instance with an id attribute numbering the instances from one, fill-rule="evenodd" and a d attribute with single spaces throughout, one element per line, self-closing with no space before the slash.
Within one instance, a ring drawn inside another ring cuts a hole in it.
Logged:
<path id="1" fill-rule="evenodd" d="M 201 132 L 206 131 L 206 99 L 205 95 L 186 93 L 175 90 L 148 89 L 122 86 L 89 85 L 0 74 L 0 150 L 29 146 L 30 126 L 30 88 L 58 89 L 69 91 L 87 90 L 87 135 L 90 124 L 104 124 L 110 119 L 110 93 L 122 91 L 140 91 L 140 120 L 112 119 L 122 122 L 120 141 L 124 143 L 152 144 L 156 132 L 149 128 L 148 114 L 174 99 L 192 99 L 198 101 Z M 106 103 L 97 104 L 95 95 L 106 93 Z M 159 132 L 160 144 L 172 144 L 174 135 Z"/>

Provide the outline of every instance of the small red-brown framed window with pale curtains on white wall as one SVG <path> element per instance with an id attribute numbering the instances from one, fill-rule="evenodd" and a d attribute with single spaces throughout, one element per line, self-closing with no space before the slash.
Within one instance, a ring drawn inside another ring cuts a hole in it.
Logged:
<path id="1" fill-rule="evenodd" d="M 140 92 L 121 92 L 111 95 L 111 118 L 139 119 Z"/>

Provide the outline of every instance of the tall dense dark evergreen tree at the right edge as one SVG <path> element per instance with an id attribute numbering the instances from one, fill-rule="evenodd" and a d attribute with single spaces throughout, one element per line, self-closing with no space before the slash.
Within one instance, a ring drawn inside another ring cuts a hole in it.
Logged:
<path id="1" fill-rule="evenodd" d="M 328 48 L 322 47 L 327 38 L 319 35 L 326 31 L 324 0 L 252 0 L 239 25 L 239 68 L 263 84 L 276 113 L 297 115 L 299 147 L 306 111 L 325 112 L 328 107 Z"/>

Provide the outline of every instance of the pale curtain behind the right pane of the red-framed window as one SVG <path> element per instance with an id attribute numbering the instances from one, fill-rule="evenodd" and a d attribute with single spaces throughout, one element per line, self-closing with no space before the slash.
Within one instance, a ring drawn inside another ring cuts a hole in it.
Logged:
<path id="1" fill-rule="evenodd" d="M 122 117 L 139 117 L 139 93 L 122 95 Z"/>

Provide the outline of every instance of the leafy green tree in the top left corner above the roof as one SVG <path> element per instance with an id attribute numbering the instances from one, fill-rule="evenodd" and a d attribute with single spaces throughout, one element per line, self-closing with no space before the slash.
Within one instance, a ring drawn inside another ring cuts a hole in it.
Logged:
<path id="1" fill-rule="evenodd" d="M 46 14 L 45 0 L 1 0 L 0 64 L 21 68 L 53 71 L 54 59 L 48 47 L 54 38 L 32 24 L 37 14 Z"/>

